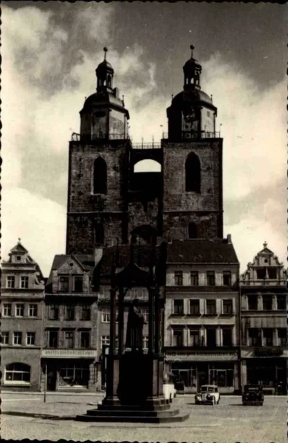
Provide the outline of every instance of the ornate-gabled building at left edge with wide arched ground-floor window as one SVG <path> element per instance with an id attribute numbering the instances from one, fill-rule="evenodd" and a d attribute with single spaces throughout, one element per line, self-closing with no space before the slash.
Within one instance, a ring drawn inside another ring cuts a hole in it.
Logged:
<path id="1" fill-rule="evenodd" d="M 1 266 L 2 389 L 39 390 L 44 277 L 20 240 Z"/>

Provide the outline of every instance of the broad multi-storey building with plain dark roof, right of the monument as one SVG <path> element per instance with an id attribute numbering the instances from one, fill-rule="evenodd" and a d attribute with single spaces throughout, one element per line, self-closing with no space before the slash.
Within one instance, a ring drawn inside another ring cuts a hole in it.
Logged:
<path id="1" fill-rule="evenodd" d="M 168 243 L 165 359 L 195 392 L 218 384 L 240 390 L 239 262 L 231 236 Z"/>

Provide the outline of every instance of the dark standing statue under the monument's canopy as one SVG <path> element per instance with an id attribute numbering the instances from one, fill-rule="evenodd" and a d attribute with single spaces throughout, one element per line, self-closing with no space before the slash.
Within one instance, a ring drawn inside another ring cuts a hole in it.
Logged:
<path id="1" fill-rule="evenodd" d="M 143 325 L 146 325 L 145 316 L 137 306 L 138 300 L 131 302 L 127 320 L 126 347 L 132 351 L 143 351 Z"/>

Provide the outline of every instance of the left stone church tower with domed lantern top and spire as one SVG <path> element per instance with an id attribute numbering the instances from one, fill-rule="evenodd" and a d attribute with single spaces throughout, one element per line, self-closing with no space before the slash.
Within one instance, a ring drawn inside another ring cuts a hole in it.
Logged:
<path id="1" fill-rule="evenodd" d="M 80 134 L 69 143 L 66 253 L 127 242 L 129 112 L 113 87 L 105 57 L 96 69 L 96 93 L 80 111 Z"/>

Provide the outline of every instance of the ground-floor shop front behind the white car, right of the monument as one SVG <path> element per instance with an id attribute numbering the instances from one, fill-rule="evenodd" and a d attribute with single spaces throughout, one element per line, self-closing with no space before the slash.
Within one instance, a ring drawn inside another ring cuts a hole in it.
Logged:
<path id="1" fill-rule="evenodd" d="M 166 365 L 185 392 L 197 392 L 203 384 L 217 384 L 223 394 L 240 389 L 240 363 L 237 352 L 166 352 Z"/>

